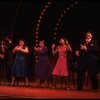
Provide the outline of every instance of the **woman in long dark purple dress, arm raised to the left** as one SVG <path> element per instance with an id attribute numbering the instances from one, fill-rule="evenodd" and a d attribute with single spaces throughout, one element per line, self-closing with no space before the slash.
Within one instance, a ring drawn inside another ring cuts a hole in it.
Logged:
<path id="1" fill-rule="evenodd" d="M 45 82 L 47 87 L 47 80 L 49 78 L 49 59 L 47 55 L 47 46 L 45 46 L 44 40 L 39 42 L 39 47 L 34 47 L 35 52 L 38 55 L 38 62 L 35 66 L 35 78 L 37 80 L 38 87 L 41 86 L 41 82 Z"/>

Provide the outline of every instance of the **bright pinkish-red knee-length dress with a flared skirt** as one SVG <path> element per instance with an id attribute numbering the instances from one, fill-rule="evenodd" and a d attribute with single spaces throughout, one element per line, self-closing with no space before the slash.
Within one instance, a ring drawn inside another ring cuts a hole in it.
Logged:
<path id="1" fill-rule="evenodd" d="M 59 57 L 52 74 L 57 76 L 68 76 L 67 57 L 66 57 L 67 49 L 66 47 L 58 46 L 57 51 L 59 53 Z"/>

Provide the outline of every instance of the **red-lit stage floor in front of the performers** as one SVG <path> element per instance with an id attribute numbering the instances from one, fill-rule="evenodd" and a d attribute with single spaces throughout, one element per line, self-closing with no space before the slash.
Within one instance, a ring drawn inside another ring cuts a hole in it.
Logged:
<path id="1" fill-rule="evenodd" d="M 19 86 L 0 86 L 0 99 L 15 99 L 15 98 L 35 98 L 35 99 L 100 99 L 100 89 L 97 92 L 93 92 L 91 87 L 84 87 L 82 91 L 76 91 L 73 86 L 70 90 L 61 88 L 59 85 L 57 89 L 38 88 L 35 83 L 30 83 L 29 87 L 25 87 L 22 84 Z"/>

